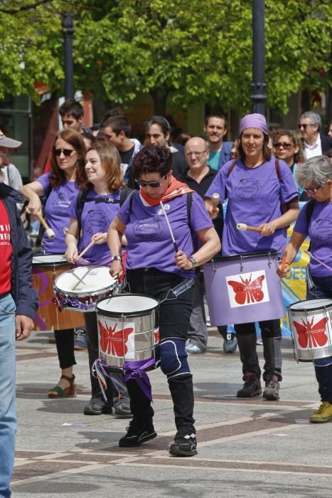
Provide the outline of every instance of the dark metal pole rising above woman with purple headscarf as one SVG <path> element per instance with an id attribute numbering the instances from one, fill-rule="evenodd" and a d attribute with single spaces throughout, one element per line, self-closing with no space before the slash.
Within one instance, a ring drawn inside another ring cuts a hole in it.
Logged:
<path id="1" fill-rule="evenodd" d="M 252 112 L 265 115 L 264 0 L 252 0 Z"/>

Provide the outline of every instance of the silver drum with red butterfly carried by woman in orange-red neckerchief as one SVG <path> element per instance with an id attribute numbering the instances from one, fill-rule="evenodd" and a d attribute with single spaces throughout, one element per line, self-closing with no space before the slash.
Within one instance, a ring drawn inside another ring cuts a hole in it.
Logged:
<path id="1" fill-rule="evenodd" d="M 158 300 L 141 294 L 119 294 L 97 302 L 100 358 L 109 366 L 124 368 L 125 363 L 127 369 L 154 359 L 158 310 Z"/>

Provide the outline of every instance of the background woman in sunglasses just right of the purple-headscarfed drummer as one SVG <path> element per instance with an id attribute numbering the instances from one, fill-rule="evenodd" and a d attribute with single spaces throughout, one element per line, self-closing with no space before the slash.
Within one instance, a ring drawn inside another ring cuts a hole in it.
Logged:
<path id="1" fill-rule="evenodd" d="M 282 130 L 282 132 L 279 132 L 277 134 L 277 137 L 275 138 L 273 144 L 273 148 L 274 156 L 278 159 L 282 159 L 289 165 L 296 184 L 296 169 L 304 161 L 301 142 L 296 138 L 294 133 Z M 307 201 L 308 198 L 306 196 L 306 193 L 304 192 L 304 189 L 301 189 L 301 187 L 297 184 L 296 186 L 299 190 L 300 201 Z"/>

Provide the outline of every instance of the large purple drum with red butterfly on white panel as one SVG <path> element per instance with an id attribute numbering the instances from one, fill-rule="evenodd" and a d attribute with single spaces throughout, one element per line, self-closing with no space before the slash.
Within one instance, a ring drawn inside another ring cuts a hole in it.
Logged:
<path id="1" fill-rule="evenodd" d="M 211 325 L 284 317 L 278 252 L 225 256 L 203 265 Z"/>

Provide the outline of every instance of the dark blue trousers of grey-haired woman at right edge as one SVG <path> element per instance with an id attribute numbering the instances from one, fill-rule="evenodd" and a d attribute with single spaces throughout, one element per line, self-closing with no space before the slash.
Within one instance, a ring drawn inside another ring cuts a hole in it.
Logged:
<path id="1" fill-rule="evenodd" d="M 307 269 L 306 299 L 332 299 L 332 277 L 314 277 Z M 321 401 L 332 405 L 332 356 L 314 360 Z"/>

